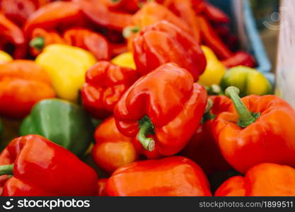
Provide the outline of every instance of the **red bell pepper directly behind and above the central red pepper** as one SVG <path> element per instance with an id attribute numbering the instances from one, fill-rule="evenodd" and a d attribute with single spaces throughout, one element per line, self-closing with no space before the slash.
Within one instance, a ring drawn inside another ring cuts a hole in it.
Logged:
<path id="1" fill-rule="evenodd" d="M 190 71 L 197 81 L 207 64 L 206 57 L 194 38 L 166 20 L 141 30 L 133 40 L 133 54 L 141 75 L 162 64 L 173 62 Z"/>

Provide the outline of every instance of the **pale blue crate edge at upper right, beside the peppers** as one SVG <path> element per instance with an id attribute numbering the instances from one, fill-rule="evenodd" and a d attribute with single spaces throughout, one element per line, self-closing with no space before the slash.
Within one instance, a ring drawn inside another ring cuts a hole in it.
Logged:
<path id="1" fill-rule="evenodd" d="M 233 20 L 237 20 L 236 15 L 233 11 L 236 8 L 233 8 L 233 1 L 242 1 L 241 6 L 243 6 L 243 23 L 235 23 Z M 258 71 L 265 74 L 267 79 L 274 85 L 274 74 L 271 73 L 272 64 L 270 63 L 270 59 L 267 56 L 267 52 L 265 51 L 265 47 L 260 38 L 260 34 L 258 32 L 258 28 L 255 22 L 255 18 L 253 16 L 253 11 L 250 6 L 249 0 L 211 0 L 211 4 L 217 6 L 222 11 L 224 11 L 231 18 L 231 31 L 237 34 L 238 25 L 243 25 L 245 35 L 239 35 L 239 40 L 243 40 L 245 50 L 253 54 L 255 60 L 258 64 L 256 69 Z"/>

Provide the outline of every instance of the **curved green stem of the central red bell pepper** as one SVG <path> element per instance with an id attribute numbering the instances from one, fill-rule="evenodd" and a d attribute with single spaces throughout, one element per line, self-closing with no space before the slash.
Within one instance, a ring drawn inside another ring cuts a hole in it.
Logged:
<path id="1" fill-rule="evenodd" d="M 155 141 L 152 138 L 147 138 L 146 135 L 154 134 L 154 125 L 149 117 L 145 116 L 139 121 L 139 133 L 137 139 L 147 151 L 154 151 Z"/>

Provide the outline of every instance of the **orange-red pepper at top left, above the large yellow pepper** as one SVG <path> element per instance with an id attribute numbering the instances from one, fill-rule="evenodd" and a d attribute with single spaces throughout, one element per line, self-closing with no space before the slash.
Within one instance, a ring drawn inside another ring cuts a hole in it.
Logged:
<path id="1" fill-rule="evenodd" d="M 33 13 L 24 25 L 24 32 L 31 37 L 35 28 L 63 31 L 73 26 L 85 25 L 79 4 L 72 1 L 54 1 Z"/>

